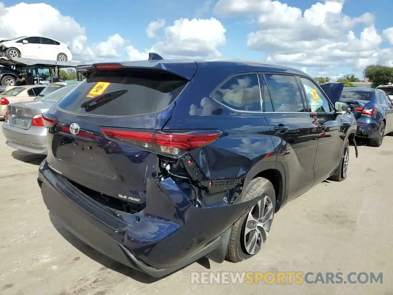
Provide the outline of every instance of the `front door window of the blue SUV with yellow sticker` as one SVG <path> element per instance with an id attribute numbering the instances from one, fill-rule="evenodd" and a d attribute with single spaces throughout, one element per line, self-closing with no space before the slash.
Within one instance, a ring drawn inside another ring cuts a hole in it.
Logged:
<path id="1" fill-rule="evenodd" d="M 331 112 L 332 107 L 318 86 L 311 80 L 300 78 L 306 92 L 307 101 L 309 102 L 311 112 Z"/>

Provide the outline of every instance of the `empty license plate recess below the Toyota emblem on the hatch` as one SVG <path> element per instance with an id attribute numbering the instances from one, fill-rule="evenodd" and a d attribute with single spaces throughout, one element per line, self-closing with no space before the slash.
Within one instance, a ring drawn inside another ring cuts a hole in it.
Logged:
<path id="1" fill-rule="evenodd" d="M 105 149 L 94 142 L 63 135 L 53 137 L 53 155 L 62 162 L 88 172 L 115 178 L 116 172 L 109 162 Z"/>

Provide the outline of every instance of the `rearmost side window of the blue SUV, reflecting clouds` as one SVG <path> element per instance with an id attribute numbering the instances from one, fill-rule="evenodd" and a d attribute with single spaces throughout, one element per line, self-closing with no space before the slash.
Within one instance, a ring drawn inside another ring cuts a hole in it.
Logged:
<path id="1" fill-rule="evenodd" d="M 261 111 L 258 75 L 245 74 L 229 79 L 214 92 L 213 98 L 239 111 Z"/>

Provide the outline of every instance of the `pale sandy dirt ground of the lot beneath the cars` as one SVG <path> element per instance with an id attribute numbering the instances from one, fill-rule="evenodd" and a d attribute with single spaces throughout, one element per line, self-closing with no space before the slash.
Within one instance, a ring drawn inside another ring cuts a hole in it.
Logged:
<path id="1" fill-rule="evenodd" d="M 359 152 L 356 159 L 351 149 L 346 181 L 321 183 L 275 216 L 269 242 L 254 259 L 210 266 L 202 260 L 154 280 L 56 229 L 36 181 L 43 158 L 7 147 L 0 132 L 0 294 L 393 294 L 393 137 Z M 190 272 L 209 267 L 383 272 L 383 284 L 191 285 Z"/>

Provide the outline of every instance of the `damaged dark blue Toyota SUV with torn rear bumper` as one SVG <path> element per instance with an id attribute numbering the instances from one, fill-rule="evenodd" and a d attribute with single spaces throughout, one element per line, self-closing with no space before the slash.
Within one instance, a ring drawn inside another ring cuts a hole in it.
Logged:
<path id="1" fill-rule="evenodd" d="M 44 202 L 85 243 L 151 276 L 252 257 L 279 208 L 347 175 L 355 118 L 342 87 L 304 72 L 171 60 L 78 70 L 86 80 L 43 114 Z"/>

